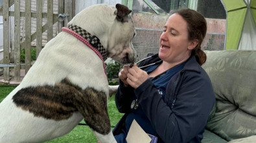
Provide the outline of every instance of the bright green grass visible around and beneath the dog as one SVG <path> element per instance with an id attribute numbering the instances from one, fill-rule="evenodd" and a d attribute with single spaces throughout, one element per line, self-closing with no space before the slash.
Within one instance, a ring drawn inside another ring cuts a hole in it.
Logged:
<path id="1" fill-rule="evenodd" d="M 16 86 L 1 85 L 0 84 L 0 102 L 5 99 L 5 97 L 16 88 Z M 115 97 L 112 96 L 108 99 L 108 113 L 110 115 L 110 122 L 113 126 L 121 119 L 122 114 L 117 111 L 115 106 Z M 81 123 L 84 123 L 82 120 Z M 76 143 L 76 142 L 86 142 L 86 143 L 97 143 L 97 138 L 93 135 L 93 132 L 88 126 L 78 125 L 67 135 L 64 135 L 54 140 L 45 143 Z"/>

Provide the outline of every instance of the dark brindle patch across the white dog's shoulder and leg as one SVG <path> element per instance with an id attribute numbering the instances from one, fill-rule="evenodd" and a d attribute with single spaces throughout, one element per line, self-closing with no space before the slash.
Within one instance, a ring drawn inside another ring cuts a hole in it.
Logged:
<path id="1" fill-rule="evenodd" d="M 106 94 L 93 88 L 82 90 L 68 79 L 55 86 L 23 88 L 12 99 L 17 107 L 45 119 L 65 120 L 79 111 L 90 128 L 110 133 Z"/>

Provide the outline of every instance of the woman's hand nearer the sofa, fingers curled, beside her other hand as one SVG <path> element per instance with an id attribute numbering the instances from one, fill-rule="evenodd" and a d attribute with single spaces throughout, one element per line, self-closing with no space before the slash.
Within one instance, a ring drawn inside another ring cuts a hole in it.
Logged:
<path id="1" fill-rule="evenodd" d="M 127 74 L 127 82 L 135 89 L 149 78 L 148 73 L 146 73 L 144 70 L 141 70 L 137 66 L 133 66 L 128 71 L 129 73 Z"/>

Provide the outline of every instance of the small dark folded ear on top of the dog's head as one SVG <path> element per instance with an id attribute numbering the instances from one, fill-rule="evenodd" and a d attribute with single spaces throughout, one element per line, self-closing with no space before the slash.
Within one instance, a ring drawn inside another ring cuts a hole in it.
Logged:
<path id="1" fill-rule="evenodd" d="M 124 17 L 130 14 L 132 10 L 130 10 L 127 6 L 121 5 L 119 3 L 115 5 L 115 8 L 117 8 L 117 20 L 121 21 L 122 23 L 128 22 Z"/>

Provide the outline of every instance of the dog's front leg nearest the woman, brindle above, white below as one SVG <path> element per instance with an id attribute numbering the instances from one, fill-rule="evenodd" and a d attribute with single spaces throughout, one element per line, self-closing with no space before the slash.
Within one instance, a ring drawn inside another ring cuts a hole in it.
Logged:
<path id="1" fill-rule="evenodd" d="M 87 88 L 83 91 L 83 95 L 80 100 L 77 100 L 76 106 L 84 116 L 86 124 L 100 143 L 116 143 L 117 141 L 111 132 L 106 93 Z"/>

